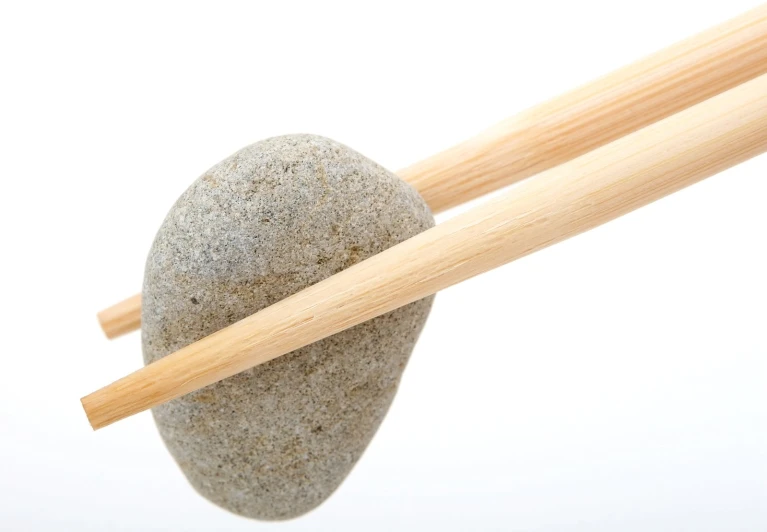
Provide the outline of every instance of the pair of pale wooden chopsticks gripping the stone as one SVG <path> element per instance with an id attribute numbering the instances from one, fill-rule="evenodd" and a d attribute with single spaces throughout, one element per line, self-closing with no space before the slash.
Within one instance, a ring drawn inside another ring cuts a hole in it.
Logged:
<path id="1" fill-rule="evenodd" d="M 537 175 L 84 397 L 91 425 L 272 360 L 767 151 L 766 73 L 761 6 L 400 172 L 436 212 Z M 126 316 L 140 311 L 132 299 L 112 313 L 123 332 Z"/>

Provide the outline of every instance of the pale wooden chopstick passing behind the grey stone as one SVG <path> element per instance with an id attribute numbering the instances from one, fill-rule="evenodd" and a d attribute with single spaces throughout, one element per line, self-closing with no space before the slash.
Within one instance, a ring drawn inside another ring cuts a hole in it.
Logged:
<path id="1" fill-rule="evenodd" d="M 501 122 L 399 176 L 432 212 L 442 212 L 764 73 L 767 5 Z M 125 321 L 138 328 L 140 309 L 126 310 Z"/>

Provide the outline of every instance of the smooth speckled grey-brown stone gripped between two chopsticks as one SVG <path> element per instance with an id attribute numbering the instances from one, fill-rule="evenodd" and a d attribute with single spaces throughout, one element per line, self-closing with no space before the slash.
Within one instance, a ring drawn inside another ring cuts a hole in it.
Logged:
<path id="1" fill-rule="evenodd" d="M 248 146 L 181 196 L 147 259 L 153 362 L 434 225 L 421 197 L 329 139 Z M 341 483 L 383 420 L 431 298 L 153 410 L 194 488 L 237 514 L 299 516 Z"/>

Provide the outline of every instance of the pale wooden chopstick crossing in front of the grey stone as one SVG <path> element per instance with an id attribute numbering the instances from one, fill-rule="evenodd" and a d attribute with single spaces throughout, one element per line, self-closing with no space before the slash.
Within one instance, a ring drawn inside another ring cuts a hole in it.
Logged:
<path id="1" fill-rule="evenodd" d="M 767 151 L 767 75 L 506 194 L 82 399 L 100 428 L 601 225 Z"/>

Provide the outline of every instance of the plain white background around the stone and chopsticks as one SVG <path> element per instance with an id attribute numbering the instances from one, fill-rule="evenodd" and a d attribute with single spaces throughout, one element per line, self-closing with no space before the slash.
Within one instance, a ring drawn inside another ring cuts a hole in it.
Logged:
<path id="1" fill-rule="evenodd" d="M 342 487 L 259 523 L 199 497 L 95 312 L 168 208 L 290 132 L 398 169 L 754 1 L 3 2 L 0 529 L 767 529 L 767 158 L 440 294 Z M 440 216 L 441 220 L 455 213 Z"/>

